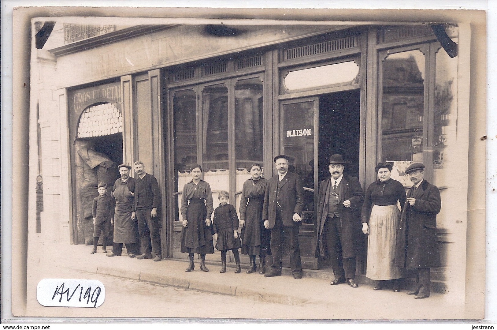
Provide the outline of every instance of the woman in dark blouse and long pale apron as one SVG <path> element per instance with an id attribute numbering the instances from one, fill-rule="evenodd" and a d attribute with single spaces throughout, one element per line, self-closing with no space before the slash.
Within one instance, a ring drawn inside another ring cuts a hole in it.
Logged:
<path id="1" fill-rule="evenodd" d="M 378 180 L 366 190 L 361 216 L 362 231 L 369 234 L 366 276 L 377 281 L 373 290 L 381 290 L 387 280 L 393 280 L 394 291 L 399 292 L 402 275 L 394 265 L 401 215 L 397 201 L 401 206 L 406 203 L 406 190 L 402 183 L 390 178 L 392 165 L 389 163 L 379 163 L 375 171 Z"/>

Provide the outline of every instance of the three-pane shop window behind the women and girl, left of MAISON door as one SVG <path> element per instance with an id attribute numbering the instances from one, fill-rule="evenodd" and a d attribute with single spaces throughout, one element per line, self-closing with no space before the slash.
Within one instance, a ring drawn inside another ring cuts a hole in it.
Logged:
<path id="1" fill-rule="evenodd" d="M 257 62 L 258 63 L 258 62 Z M 175 220 L 189 166 L 203 167 L 203 179 L 217 199 L 230 192 L 238 210 L 248 167 L 263 163 L 263 82 L 259 75 L 199 84 L 172 92 L 174 116 Z M 197 119 L 198 117 L 198 119 Z M 197 138 L 197 132 L 200 134 Z"/>

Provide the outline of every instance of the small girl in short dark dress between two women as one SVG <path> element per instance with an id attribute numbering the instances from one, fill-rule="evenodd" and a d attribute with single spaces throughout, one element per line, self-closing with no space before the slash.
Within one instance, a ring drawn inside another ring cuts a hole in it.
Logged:
<path id="1" fill-rule="evenodd" d="M 216 249 L 221 251 L 221 262 L 223 267 L 220 273 L 226 273 L 226 252 L 231 250 L 235 256 L 235 262 L 237 263 L 237 268 L 235 273 L 240 273 L 242 269 L 240 268 L 240 254 L 238 249 L 242 247 L 240 242 L 240 237 L 238 237 L 238 216 L 237 210 L 233 205 L 228 204 L 230 199 L 230 194 L 227 191 L 221 190 L 219 192 L 218 200 L 220 202 L 219 207 L 214 210 L 214 236 L 217 239 Z"/>

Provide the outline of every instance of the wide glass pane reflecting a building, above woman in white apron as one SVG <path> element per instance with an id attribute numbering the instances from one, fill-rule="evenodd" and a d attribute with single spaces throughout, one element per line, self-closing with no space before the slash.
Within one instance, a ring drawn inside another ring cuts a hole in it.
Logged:
<path id="1" fill-rule="evenodd" d="M 382 158 L 423 161 L 425 57 L 419 50 L 383 62 Z"/>

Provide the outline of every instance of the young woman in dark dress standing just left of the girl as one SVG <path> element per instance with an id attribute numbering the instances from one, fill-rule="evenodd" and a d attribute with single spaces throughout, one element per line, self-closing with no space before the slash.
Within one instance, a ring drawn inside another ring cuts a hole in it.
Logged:
<path id="1" fill-rule="evenodd" d="M 205 255 L 214 253 L 212 242 L 213 228 L 211 215 L 214 212 L 212 203 L 211 186 L 200 179 L 202 167 L 198 164 L 190 168 L 192 180 L 184 185 L 181 195 L 181 217 L 183 228 L 181 230 L 181 252 L 188 253 L 188 268 L 191 272 L 194 253 L 200 254 L 200 270 L 208 272 L 205 267 Z"/>

